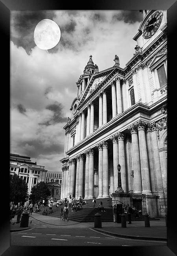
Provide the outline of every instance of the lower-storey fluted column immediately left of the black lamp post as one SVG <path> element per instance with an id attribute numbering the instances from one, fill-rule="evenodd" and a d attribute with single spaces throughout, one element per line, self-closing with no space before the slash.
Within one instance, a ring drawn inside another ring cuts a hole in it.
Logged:
<path id="1" fill-rule="evenodd" d="M 119 155 L 118 155 L 118 135 L 113 135 L 111 137 L 113 143 L 113 183 L 114 189 L 113 191 L 117 190 L 118 187 L 118 163 L 119 163 Z"/>

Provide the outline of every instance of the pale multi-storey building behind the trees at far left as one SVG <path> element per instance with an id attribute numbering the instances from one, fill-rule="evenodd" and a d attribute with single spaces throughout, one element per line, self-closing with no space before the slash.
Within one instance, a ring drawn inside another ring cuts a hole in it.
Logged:
<path id="1" fill-rule="evenodd" d="M 10 175 L 16 173 L 28 184 L 29 195 L 33 186 L 41 181 L 45 182 L 46 172 L 44 166 L 31 162 L 30 156 L 10 154 Z"/>

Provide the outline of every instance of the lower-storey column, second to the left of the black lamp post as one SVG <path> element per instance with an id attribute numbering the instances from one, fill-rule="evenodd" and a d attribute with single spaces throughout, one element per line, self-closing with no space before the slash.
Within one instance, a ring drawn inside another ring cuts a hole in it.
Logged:
<path id="1" fill-rule="evenodd" d="M 108 148 L 107 142 L 103 141 L 103 198 L 109 197 L 109 180 L 108 180 Z"/>

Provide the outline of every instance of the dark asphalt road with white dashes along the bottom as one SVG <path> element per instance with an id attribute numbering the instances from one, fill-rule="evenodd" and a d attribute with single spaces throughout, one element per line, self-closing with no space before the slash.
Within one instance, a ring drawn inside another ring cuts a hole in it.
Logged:
<path id="1" fill-rule="evenodd" d="M 33 228 L 10 235 L 17 246 L 167 246 L 164 241 L 114 237 L 92 228 Z"/>

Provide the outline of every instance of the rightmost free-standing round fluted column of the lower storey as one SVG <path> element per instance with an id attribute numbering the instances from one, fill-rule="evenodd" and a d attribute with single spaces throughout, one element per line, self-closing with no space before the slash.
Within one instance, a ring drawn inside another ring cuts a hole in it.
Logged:
<path id="1" fill-rule="evenodd" d="M 145 126 L 146 126 L 146 123 L 144 121 L 140 120 L 138 122 L 140 165 L 141 165 L 141 177 L 142 177 L 142 194 L 152 195 L 151 187 L 150 187 L 150 179 L 149 179 L 149 165 L 148 165 L 148 158 L 147 158 Z"/>

